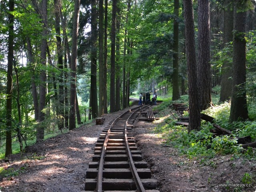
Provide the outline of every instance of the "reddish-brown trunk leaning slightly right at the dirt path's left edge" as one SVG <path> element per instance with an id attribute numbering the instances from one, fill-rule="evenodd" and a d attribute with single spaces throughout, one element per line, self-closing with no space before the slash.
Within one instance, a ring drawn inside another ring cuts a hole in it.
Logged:
<path id="1" fill-rule="evenodd" d="M 72 31 L 72 56 L 71 56 L 71 80 L 70 80 L 70 111 L 69 111 L 69 130 L 76 128 L 76 58 L 77 58 L 77 39 L 79 22 L 80 0 L 75 0 L 74 20 Z"/>

